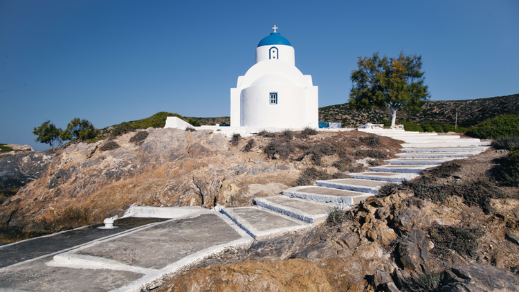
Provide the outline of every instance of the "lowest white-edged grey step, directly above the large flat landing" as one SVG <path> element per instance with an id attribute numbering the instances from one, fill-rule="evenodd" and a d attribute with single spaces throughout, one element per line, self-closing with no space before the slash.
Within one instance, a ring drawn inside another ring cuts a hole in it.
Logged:
<path id="1" fill-rule="evenodd" d="M 259 207 L 219 210 L 255 239 L 268 239 L 311 226 L 305 221 Z"/>

